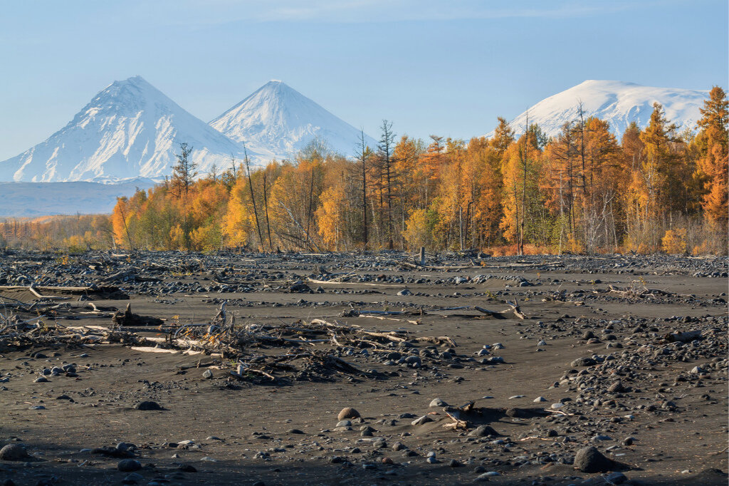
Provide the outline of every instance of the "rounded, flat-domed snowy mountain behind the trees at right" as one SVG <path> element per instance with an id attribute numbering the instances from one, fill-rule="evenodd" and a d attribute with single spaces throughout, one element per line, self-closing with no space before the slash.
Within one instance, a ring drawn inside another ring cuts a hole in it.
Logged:
<path id="1" fill-rule="evenodd" d="M 701 117 L 698 110 L 708 97 L 708 90 L 653 88 L 633 82 L 587 80 L 539 101 L 515 117 L 511 126 L 516 133 L 523 133 L 529 115 L 530 125 L 537 123 L 548 136 L 555 136 L 564 123 L 577 118 L 577 107 L 582 102 L 585 118 L 606 120 L 613 133 L 621 136 L 633 121 L 641 128 L 647 126 L 653 103 L 658 101 L 672 123 L 682 128 L 695 128 L 696 120 Z M 487 136 L 492 135 L 493 132 Z"/>

